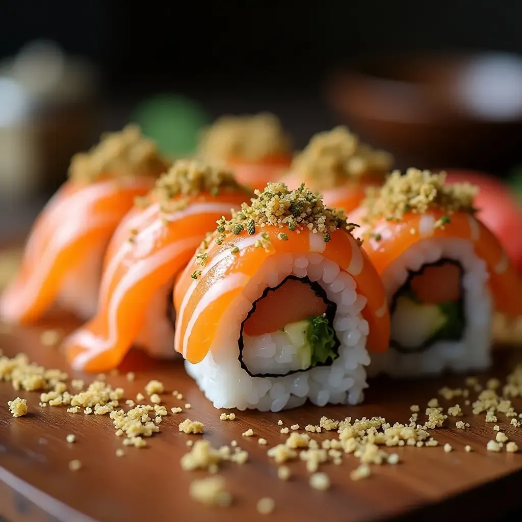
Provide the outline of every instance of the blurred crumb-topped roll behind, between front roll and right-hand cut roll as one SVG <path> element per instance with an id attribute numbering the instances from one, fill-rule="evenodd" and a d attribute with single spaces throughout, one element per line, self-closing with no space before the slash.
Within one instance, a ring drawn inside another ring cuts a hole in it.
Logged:
<path id="1" fill-rule="evenodd" d="M 290 188 L 305 183 L 323 195 L 325 205 L 351 212 L 364 199 L 365 187 L 384 183 L 392 164 L 388 152 L 360 143 L 346 127 L 335 127 L 312 137 L 283 181 Z"/>

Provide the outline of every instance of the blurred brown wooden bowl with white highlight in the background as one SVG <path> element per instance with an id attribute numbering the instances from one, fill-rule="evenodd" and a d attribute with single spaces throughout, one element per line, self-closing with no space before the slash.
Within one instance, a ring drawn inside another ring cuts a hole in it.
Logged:
<path id="1" fill-rule="evenodd" d="M 522 160 L 522 59 L 484 53 L 366 59 L 333 75 L 330 105 L 399 168 L 503 172 Z"/>

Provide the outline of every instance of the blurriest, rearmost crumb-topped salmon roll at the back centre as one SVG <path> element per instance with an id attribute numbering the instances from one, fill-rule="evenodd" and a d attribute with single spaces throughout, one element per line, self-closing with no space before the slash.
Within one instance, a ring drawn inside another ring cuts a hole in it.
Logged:
<path id="1" fill-rule="evenodd" d="M 290 138 L 268 113 L 222 116 L 203 133 L 199 155 L 232 167 L 236 180 L 252 188 L 280 181 L 292 161 Z"/>

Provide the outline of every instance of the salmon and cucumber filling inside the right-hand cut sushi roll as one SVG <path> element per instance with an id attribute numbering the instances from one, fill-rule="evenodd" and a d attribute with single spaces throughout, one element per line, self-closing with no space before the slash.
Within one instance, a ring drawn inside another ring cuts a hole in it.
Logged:
<path id="1" fill-rule="evenodd" d="M 462 268 L 452 260 L 410 272 L 392 302 L 392 346 L 421 351 L 436 341 L 459 340 L 465 327 Z"/>

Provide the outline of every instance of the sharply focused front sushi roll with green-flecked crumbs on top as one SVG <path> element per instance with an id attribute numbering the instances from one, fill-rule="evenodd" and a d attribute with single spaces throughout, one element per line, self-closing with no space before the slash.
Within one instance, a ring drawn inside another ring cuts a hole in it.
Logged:
<path id="1" fill-rule="evenodd" d="M 369 351 L 388 347 L 381 279 L 309 189 L 269 183 L 256 196 L 176 283 L 175 349 L 216 408 L 355 404 Z"/>

